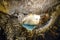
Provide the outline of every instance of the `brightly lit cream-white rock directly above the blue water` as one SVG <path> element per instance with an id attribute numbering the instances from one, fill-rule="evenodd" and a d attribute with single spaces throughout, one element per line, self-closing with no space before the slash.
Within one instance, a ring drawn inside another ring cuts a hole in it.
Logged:
<path id="1" fill-rule="evenodd" d="M 40 20 L 40 15 L 30 14 L 23 19 L 24 24 L 37 25 Z"/>

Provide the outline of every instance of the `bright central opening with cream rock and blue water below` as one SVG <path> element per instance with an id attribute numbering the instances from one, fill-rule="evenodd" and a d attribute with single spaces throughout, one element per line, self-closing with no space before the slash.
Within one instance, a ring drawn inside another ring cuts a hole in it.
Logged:
<path id="1" fill-rule="evenodd" d="M 38 24 L 40 20 L 40 15 L 30 14 L 27 15 L 23 20 L 23 27 L 28 30 L 33 30 Z"/>

